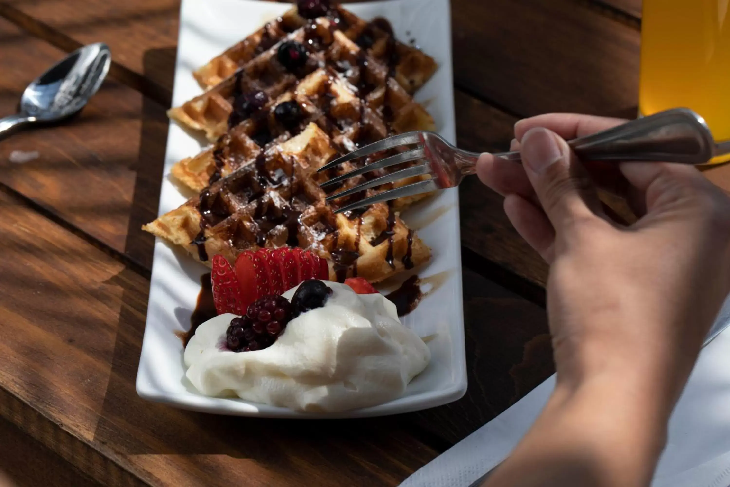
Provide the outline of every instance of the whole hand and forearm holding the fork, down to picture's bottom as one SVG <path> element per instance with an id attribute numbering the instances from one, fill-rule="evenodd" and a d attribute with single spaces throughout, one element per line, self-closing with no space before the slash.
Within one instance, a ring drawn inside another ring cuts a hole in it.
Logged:
<path id="1" fill-rule="evenodd" d="M 616 467 L 604 468 L 618 479 L 605 485 L 648 482 L 672 407 L 730 292 L 726 193 L 692 166 L 582 164 L 564 140 L 624 121 L 567 114 L 521 120 L 512 148 L 523 164 L 490 155 L 477 164 L 480 180 L 505 196 L 515 229 L 550 264 L 558 374 L 542 420 L 517 459 L 498 469 L 495 485 L 510 472 L 523 478 L 520 459 L 565 465 L 560 452 L 574 450 L 605 459 L 596 468 Z M 638 221 L 623 226 L 608 218 L 598 187 L 624 196 Z"/>

